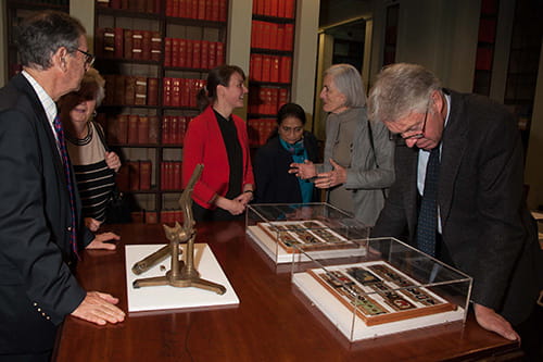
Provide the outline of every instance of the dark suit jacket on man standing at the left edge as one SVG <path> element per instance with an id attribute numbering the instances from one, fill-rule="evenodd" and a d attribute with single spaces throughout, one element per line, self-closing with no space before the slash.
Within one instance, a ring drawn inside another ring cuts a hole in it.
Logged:
<path id="1" fill-rule="evenodd" d="M 56 325 L 86 292 L 68 266 L 70 195 L 55 138 L 23 75 L 0 89 L 0 354 L 35 353 L 53 347 Z M 76 212 L 80 220 L 78 198 Z M 84 247 L 92 235 L 79 230 Z"/>

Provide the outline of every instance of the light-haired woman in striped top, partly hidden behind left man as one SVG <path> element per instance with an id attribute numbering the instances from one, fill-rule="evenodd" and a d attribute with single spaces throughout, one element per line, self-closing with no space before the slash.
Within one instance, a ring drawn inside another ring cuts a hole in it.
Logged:
<path id="1" fill-rule="evenodd" d="M 121 160 L 106 151 L 103 130 L 92 122 L 96 109 L 104 98 L 105 80 L 97 70 L 89 68 L 79 90 L 59 100 L 59 114 L 66 137 L 70 159 L 74 166 L 83 203 L 85 225 L 96 232 L 105 221 L 105 209 L 115 185 Z"/>

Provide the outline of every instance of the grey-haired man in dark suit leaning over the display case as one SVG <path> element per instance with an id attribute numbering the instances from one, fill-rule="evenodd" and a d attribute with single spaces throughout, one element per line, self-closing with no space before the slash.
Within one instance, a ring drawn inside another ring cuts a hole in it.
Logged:
<path id="1" fill-rule="evenodd" d="M 512 340 L 520 334 L 526 345 L 541 338 L 543 258 L 512 114 L 488 98 L 443 89 L 431 72 L 405 63 L 381 71 L 368 107 L 370 118 L 404 140 L 372 236 L 403 238 L 472 276 L 482 327 Z"/>

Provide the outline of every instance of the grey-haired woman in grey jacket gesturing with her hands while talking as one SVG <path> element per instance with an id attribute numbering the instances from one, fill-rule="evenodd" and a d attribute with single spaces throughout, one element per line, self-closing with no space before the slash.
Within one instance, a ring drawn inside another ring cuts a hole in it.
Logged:
<path id="1" fill-rule="evenodd" d="M 293 163 L 290 173 L 315 178 L 326 200 L 366 225 L 374 225 L 394 182 L 394 141 L 381 122 L 368 121 L 358 71 L 336 64 L 325 72 L 320 91 L 326 120 L 323 164 Z"/>

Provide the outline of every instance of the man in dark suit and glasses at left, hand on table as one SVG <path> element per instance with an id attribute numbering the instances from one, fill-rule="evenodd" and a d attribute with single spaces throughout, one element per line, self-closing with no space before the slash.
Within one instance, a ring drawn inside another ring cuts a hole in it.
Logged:
<path id="1" fill-rule="evenodd" d="M 54 101 L 92 61 L 85 29 L 45 12 L 20 26 L 23 72 L 0 89 L 0 361 L 48 361 L 64 316 L 124 320 L 117 299 L 85 291 L 72 270 L 81 248 L 106 247 L 81 223 Z M 72 267 L 72 269 L 71 269 Z"/>

